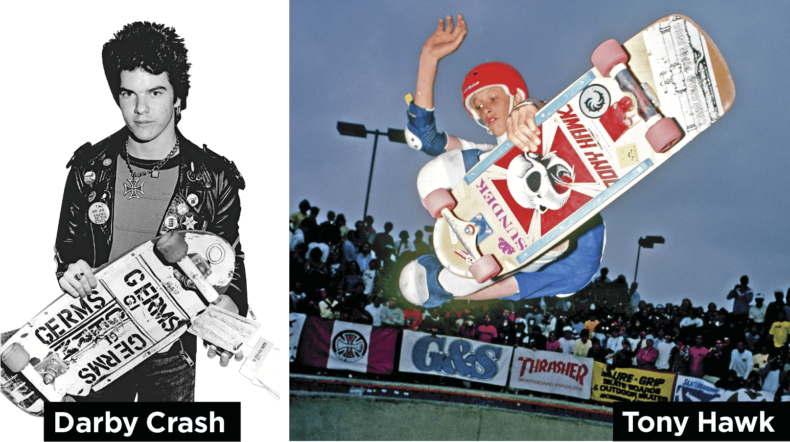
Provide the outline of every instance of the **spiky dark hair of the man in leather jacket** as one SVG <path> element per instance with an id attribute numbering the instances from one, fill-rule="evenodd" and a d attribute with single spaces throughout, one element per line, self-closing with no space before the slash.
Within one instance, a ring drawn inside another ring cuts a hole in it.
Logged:
<path id="1" fill-rule="evenodd" d="M 175 33 L 175 27 L 150 21 L 124 25 L 102 47 L 104 77 L 115 104 L 121 92 L 121 71 L 139 67 L 152 75 L 167 72 L 175 93 L 174 103 L 180 98 L 181 111 L 185 111 L 192 67 L 189 59 L 190 51 L 182 36 Z"/>

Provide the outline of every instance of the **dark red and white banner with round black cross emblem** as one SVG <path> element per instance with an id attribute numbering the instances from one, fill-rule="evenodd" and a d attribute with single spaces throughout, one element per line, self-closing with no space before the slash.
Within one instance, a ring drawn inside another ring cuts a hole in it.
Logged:
<path id="1" fill-rule="evenodd" d="M 304 365 L 378 374 L 393 372 L 397 329 L 310 316 L 302 333 Z"/>

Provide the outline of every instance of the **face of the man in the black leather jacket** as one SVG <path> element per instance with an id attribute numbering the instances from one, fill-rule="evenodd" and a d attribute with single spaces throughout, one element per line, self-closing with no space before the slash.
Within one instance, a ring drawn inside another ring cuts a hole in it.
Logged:
<path id="1" fill-rule="evenodd" d="M 156 139 L 173 121 L 175 108 L 173 86 L 167 72 L 149 74 L 140 68 L 121 71 L 119 104 L 126 127 L 140 142 Z"/>

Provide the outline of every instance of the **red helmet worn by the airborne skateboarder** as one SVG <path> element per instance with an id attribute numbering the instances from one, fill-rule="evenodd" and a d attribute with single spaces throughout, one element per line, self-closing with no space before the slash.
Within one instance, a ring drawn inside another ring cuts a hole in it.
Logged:
<path id="1" fill-rule="evenodd" d="M 472 96 L 483 89 L 494 86 L 505 89 L 505 93 L 510 96 L 516 96 L 521 92 L 523 99 L 529 98 L 527 84 L 513 66 L 502 62 L 483 63 L 466 74 L 461 89 L 464 96 L 464 106 L 473 119 L 480 119 L 480 115 L 477 115 L 477 111 L 472 105 Z"/>

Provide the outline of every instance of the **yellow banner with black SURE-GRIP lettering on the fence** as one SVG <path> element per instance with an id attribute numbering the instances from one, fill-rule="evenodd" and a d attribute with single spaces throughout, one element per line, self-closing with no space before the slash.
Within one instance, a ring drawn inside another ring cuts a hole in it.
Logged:
<path id="1" fill-rule="evenodd" d="M 669 402 L 675 373 L 639 368 L 612 368 L 595 362 L 592 399 L 601 402 Z"/>

